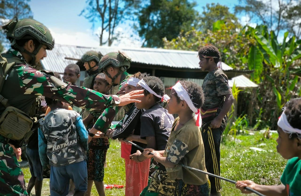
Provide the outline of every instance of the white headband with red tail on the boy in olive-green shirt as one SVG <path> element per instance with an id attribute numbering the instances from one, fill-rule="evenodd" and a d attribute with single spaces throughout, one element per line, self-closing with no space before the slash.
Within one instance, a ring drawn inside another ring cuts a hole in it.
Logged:
<path id="1" fill-rule="evenodd" d="M 188 107 L 196 114 L 196 124 L 198 127 L 202 125 L 202 118 L 200 118 L 200 109 L 197 109 L 197 107 L 194 106 L 194 104 L 191 101 L 191 98 L 188 94 L 188 92 L 184 89 L 182 84 L 180 82 L 177 82 L 175 86 L 172 87 L 172 89 L 175 90 L 175 92 L 178 94 L 178 97 L 181 100 L 186 101 Z"/>

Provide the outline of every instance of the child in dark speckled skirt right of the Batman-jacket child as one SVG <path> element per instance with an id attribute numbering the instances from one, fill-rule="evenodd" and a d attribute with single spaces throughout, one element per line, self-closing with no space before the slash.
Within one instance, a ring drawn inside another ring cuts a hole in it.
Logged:
<path id="1" fill-rule="evenodd" d="M 103 73 L 95 77 L 93 89 L 97 92 L 107 95 L 111 85 L 107 83 Z M 95 121 L 102 114 L 103 110 L 90 111 L 88 116 L 83 120 L 88 129 L 92 128 Z M 105 195 L 104 192 L 104 163 L 106 160 L 107 150 L 109 148 L 108 138 L 93 138 L 89 143 L 87 153 L 87 170 L 88 170 L 88 189 L 86 195 L 91 194 L 93 181 L 99 195 Z"/>

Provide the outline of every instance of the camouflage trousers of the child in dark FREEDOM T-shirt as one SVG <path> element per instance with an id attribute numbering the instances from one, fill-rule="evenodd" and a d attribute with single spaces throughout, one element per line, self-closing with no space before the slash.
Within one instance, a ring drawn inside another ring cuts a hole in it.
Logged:
<path id="1" fill-rule="evenodd" d="M 175 181 L 170 180 L 167 172 L 157 169 L 151 176 L 145 196 L 175 196 Z"/>

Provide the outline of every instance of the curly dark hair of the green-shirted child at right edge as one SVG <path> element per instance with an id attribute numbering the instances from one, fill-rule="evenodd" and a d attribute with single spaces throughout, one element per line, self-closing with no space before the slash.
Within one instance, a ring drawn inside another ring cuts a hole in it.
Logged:
<path id="1" fill-rule="evenodd" d="M 301 98 L 291 99 L 284 107 L 286 108 L 284 113 L 287 122 L 290 123 L 293 128 L 301 129 Z M 290 138 L 293 139 L 296 137 L 298 137 L 297 134 L 293 133 Z"/>

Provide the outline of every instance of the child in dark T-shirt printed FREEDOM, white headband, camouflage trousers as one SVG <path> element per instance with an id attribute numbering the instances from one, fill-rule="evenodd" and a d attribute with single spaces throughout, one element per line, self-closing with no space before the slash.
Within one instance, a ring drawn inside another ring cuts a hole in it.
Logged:
<path id="1" fill-rule="evenodd" d="M 164 150 L 174 118 L 160 105 L 164 95 L 163 83 L 157 77 L 148 76 L 138 82 L 136 90 L 141 89 L 145 96 L 138 98 L 141 102 L 136 103 L 138 109 L 146 110 L 141 114 L 141 134 L 131 135 L 126 139 L 145 143 L 147 148 Z M 130 155 L 130 158 L 137 162 L 146 159 L 139 150 Z M 169 180 L 165 167 L 159 164 L 159 168 L 152 174 L 147 192 L 174 196 L 174 191 L 174 180 Z"/>

